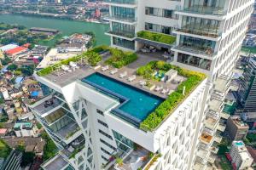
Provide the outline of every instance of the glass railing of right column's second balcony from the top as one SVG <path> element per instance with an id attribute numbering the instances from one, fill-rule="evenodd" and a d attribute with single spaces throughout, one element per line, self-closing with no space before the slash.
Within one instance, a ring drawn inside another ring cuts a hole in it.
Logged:
<path id="1" fill-rule="evenodd" d="M 218 33 L 218 26 L 203 26 L 198 24 L 191 24 L 182 26 L 182 28 L 177 29 L 177 31 L 181 31 L 183 33 L 195 34 L 203 37 L 213 37 L 217 38 L 220 36 Z"/>

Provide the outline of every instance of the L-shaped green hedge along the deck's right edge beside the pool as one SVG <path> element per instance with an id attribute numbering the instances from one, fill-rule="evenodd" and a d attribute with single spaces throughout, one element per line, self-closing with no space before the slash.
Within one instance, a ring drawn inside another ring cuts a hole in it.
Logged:
<path id="1" fill-rule="evenodd" d="M 161 103 L 155 111 L 150 113 L 148 117 L 140 123 L 140 128 L 145 131 L 153 131 L 158 127 L 166 117 L 172 115 L 177 106 L 186 99 L 189 94 L 197 87 L 197 85 L 206 78 L 206 76 L 200 72 L 189 71 L 175 65 L 170 65 L 164 61 L 151 61 L 147 65 L 144 65 L 137 69 L 137 74 L 143 77 L 151 77 L 152 72 L 155 70 L 169 71 L 170 69 L 176 70 L 177 74 L 183 77 L 187 77 L 187 80 L 181 82 L 177 90 L 170 94 L 168 98 Z M 148 76 L 150 75 L 150 76 Z M 183 87 L 185 87 L 183 95 Z"/>

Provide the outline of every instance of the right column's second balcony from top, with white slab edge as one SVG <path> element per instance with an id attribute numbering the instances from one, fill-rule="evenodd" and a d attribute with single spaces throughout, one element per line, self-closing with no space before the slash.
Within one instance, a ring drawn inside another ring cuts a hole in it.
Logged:
<path id="1" fill-rule="evenodd" d="M 218 41 L 220 34 L 218 33 L 218 27 L 201 26 L 201 25 L 187 25 L 173 31 L 176 34 L 182 34 L 189 37 L 199 37 L 211 41 Z"/>

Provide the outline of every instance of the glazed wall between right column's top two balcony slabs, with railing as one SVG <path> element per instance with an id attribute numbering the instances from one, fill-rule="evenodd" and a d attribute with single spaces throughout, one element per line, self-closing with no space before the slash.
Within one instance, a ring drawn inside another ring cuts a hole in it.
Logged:
<path id="1" fill-rule="evenodd" d="M 206 37 L 218 37 L 219 25 L 220 22 L 218 20 L 183 16 L 182 27 L 179 31 Z"/>

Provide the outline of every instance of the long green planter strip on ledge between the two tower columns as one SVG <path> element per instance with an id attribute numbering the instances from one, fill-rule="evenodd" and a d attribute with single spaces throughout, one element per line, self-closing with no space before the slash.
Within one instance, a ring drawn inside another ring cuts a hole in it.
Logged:
<path id="1" fill-rule="evenodd" d="M 148 39 L 154 42 L 161 42 L 166 44 L 172 44 L 176 41 L 176 37 L 169 36 L 162 33 L 152 32 L 152 31 L 139 31 L 137 32 L 137 37 L 141 37 L 143 39 Z"/>

